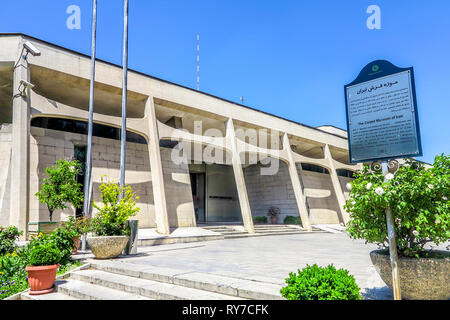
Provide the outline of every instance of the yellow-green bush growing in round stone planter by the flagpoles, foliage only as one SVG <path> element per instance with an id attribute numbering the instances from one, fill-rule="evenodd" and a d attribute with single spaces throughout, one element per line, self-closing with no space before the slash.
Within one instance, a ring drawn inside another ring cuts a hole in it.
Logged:
<path id="1" fill-rule="evenodd" d="M 91 219 L 91 230 L 97 236 L 129 235 L 126 221 L 139 211 L 136 207 L 139 197 L 133 193 L 130 186 L 125 186 L 123 198 L 120 199 L 121 188 L 114 182 L 102 183 L 100 191 L 103 206 L 100 207 L 94 202 L 93 206 L 98 210 L 98 214 Z"/>

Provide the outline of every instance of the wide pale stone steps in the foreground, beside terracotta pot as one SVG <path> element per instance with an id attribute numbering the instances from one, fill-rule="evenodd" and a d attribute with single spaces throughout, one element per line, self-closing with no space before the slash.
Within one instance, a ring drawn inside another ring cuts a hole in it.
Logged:
<path id="1" fill-rule="evenodd" d="M 281 284 L 89 259 L 55 282 L 55 291 L 21 300 L 281 300 Z"/>

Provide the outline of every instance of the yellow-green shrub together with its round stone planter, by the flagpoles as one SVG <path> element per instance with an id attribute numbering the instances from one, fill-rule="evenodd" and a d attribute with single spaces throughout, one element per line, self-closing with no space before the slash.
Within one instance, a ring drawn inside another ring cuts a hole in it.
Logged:
<path id="1" fill-rule="evenodd" d="M 139 197 L 129 186 L 122 190 L 114 182 L 102 183 L 100 191 L 103 206 L 95 202 L 93 204 L 98 213 L 90 221 L 90 230 L 94 236 L 89 236 L 87 242 L 97 259 L 109 259 L 120 255 L 128 243 L 130 229 L 127 220 L 139 211 L 136 207 Z"/>

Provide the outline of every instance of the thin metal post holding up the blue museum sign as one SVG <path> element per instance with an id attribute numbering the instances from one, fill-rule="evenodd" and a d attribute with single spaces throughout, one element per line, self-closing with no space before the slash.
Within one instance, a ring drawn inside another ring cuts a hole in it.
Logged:
<path id="1" fill-rule="evenodd" d="M 382 161 L 381 168 L 383 176 L 389 173 L 388 162 Z M 386 178 L 384 180 L 386 182 Z M 397 256 L 397 241 L 395 240 L 394 219 L 392 218 L 391 209 L 386 209 L 386 224 L 389 238 L 389 256 L 391 259 L 392 268 L 392 291 L 394 292 L 394 300 L 401 300 L 402 295 L 400 291 L 400 277 L 398 273 L 398 256 Z"/>

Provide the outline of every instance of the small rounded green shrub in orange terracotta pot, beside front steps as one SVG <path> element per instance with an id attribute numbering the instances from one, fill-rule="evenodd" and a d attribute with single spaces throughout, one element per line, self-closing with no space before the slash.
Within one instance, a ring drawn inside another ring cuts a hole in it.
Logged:
<path id="1" fill-rule="evenodd" d="M 33 239 L 28 251 L 28 284 L 30 294 L 39 295 L 54 290 L 56 271 L 61 261 L 61 251 L 48 235 Z"/>

